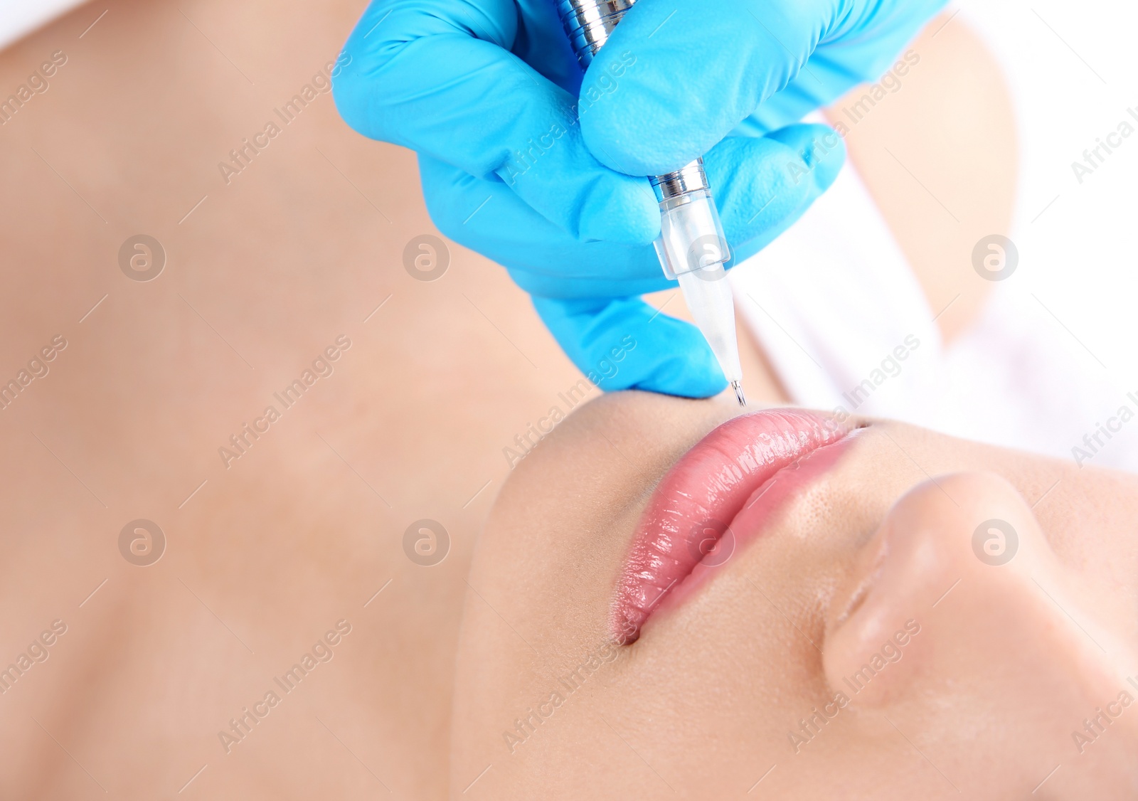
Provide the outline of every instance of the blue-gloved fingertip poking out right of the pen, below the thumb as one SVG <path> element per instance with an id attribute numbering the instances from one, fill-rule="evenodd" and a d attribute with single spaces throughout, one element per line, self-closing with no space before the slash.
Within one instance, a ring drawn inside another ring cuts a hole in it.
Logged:
<path id="1" fill-rule="evenodd" d="M 724 233 L 739 264 L 790 228 L 838 177 L 846 146 L 827 125 L 728 137 L 703 159 Z"/>

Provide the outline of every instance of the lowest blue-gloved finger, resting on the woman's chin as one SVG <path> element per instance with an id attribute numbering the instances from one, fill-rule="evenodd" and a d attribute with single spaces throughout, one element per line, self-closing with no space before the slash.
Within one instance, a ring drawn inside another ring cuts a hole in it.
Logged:
<path id="1" fill-rule="evenodd" d="M 534 298 L 534 307 L 577 369 L 601 389 L 706 398 L 727 388 L 694 325 L 640 298 Z"/>

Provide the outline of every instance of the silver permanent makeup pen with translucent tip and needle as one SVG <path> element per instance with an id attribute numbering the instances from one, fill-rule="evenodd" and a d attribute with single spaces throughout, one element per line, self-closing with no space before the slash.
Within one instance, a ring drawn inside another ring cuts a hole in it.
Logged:
<path id="1" fill-rule="evenodd" d="M 558 11 L 582 69 L 608 41 L 636 0 L 558 0 Z M 719 361 L 723 374 L 745 406 L 743 370 L 735 338 L 735 304 L 723 265 L 731 248 L 711 197 L 703 159 L 651 179 L 660 204 L 655 253 L 669 281 L 678 281 L 695 324 Z"/>

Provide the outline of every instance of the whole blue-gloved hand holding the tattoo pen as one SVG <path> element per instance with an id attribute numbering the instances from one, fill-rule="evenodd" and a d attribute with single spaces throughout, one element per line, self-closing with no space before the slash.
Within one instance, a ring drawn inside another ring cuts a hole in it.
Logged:
<path id="1" fill-rule="evenodd" d="M 554 0 L 374 0 L 333 96 L 418 151 L 439 230 L 504 265 L 583 372 L 626 352 L 603 389 L 706 397 L 726 382 L 700 332 L 638 297 L 675 286 L 640 176 L 704 155 L 735 262 L 752 255 L 844 157 L 794 121 L 880 76 L 945 2 L 640 0 L 582 81 Z"/>

